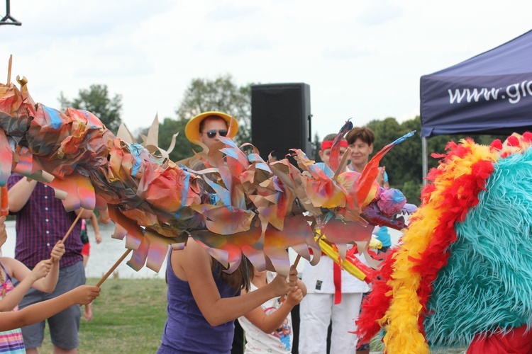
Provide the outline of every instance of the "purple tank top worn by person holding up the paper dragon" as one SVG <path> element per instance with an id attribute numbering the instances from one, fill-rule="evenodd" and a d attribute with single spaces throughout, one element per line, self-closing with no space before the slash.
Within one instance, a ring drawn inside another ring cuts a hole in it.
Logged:
<path id="1" fill-rule="evenodd" d="M 162 346 L 157 353 L 231 353 L 234 321 L 213 327 L 199 311 L 189 282 L 177 278 L 167 257 L 168 318 L 162 332 Z M 217 279 L 214 281 L 221 297 L 235 296 L 234 290 Z M 238 294 L 237 294 L 238 295 Z"/>

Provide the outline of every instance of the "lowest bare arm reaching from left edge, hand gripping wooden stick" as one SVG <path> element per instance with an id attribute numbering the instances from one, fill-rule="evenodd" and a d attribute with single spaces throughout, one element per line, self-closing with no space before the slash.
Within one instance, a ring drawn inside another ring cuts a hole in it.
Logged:
<path id="1" fill-rule="evenodd" d="M 36 324 L 75 304 L 89 304 L 98 295 L 99 287 L 81 285 L 63 295 L 24 307 L 17 312 L 0 312 L 0 331 Z"/>

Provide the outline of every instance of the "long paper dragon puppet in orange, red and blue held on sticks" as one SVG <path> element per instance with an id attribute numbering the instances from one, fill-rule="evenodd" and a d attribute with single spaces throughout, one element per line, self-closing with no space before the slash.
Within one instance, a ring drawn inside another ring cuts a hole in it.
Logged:
<path id="1" fill-rule="evenodd" d="M 221 137 L 199 154 L 204 168 L 194 171 L 156 147 L 118 139 L 85 110 L 35 104 L 26 78 L 18 82 L 20 90 L 0 85 L 0 185 L 15 171 L 51 185 L 67 210 L 109 210 L 113 237 L 125 237 L 134 250 L 128 261 L 134 269 L 146 264 L 158 271 L 168 245 L 183 247 L 193 236 L 228 271 L 243 253 L 259 269 L 287 274 L 288 247 L 309 260 L 314 248 L 311 262 L 319 260 L 315 229 L 343 244 L 369 241 L 371 223 L 404 227 L 395 217 L 404 201 L 388 210 L 387 202 L 379 205 L 386 198 L 374 180 L 385 151 L 361 175 L 330 178 L 299 150 L 294 157 L 302 171 L 287 159 L 263 161 L 253 146 L 240 149 Z"/>

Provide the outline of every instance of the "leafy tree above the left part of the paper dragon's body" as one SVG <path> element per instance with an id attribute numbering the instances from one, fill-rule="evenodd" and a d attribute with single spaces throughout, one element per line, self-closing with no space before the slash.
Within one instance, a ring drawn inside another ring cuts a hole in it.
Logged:
<path id="1" fill-rule="evenodd" d="M 114 134 L 122 122 L 120 118 L 122 96 L 116 94 L 113 98 L 109 98 L 107 85 L 94 84 L 89 89 L 81 89 L 79 90 L 79 97 L 72 101 L 66 98 L 61 91 L 58 100 L 62 110 L 71 107 L 93 113 Z"/>

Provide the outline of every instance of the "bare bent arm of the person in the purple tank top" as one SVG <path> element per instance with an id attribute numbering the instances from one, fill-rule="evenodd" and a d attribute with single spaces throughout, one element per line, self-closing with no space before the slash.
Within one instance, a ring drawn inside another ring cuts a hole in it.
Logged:
<path id="1" fill-rule="evenodd" d="M 295 285 L 297 270 L 291 268 L 290 282 L 277 276 L 270 284 L 239 297 L 221 298 L 211 270 L 211 256 L 194 239 L 189 238 L 181 251 L 172 251 L 174 273 L 189 282 L 201 314 L 211 326 L 238 319 L 273 297 L 286 294 Z"/>

